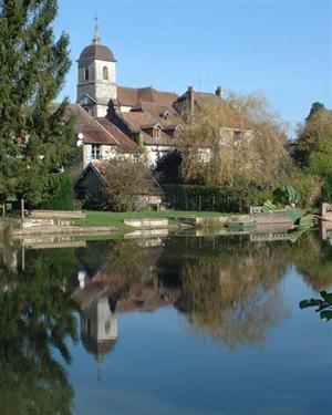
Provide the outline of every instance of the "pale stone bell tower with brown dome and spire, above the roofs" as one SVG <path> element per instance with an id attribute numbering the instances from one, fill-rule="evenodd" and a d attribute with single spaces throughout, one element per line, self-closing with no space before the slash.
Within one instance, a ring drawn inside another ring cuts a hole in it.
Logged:
<path id="1" fill-rule="evenodd" d="M 102 44 L 97 24 L 92 44 L 82 51 L 77 65 L 77 103 L 93 116 L 105 116 L 110 100 L 116 100 L 116 60 Z"/>

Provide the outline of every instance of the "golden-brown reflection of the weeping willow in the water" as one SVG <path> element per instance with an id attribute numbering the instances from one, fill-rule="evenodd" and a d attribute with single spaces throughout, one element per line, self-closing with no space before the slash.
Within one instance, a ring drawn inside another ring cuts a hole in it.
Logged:
<path id="1" fill-rule="evenodd" d="M 230 347 L 259 343 L 287 315 L 278 288 L 286 267 L 268 246 L 229 253 L 183 268 L 178 305 L 195 331 Z"/>

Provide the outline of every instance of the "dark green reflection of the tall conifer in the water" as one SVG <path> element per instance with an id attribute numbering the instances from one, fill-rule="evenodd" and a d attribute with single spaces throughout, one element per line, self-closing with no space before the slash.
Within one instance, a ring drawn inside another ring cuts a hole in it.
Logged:
<path id="1" fill-rule="evenodd" d="M 25 269 L 0 269 L 1 413 L 70 414 L 73 388 L 53 352 L 70 362 L 65 339 L 76 340 L 76 305 L 65 292 L 72 251 L 33 255 Z"/>

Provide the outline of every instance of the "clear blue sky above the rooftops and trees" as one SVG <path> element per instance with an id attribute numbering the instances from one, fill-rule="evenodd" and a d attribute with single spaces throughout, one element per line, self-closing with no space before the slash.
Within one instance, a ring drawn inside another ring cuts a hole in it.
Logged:
<path id="1" fill-rule="evenodd" d="M 59 0 L 55 33 L 70 34 L 73 60 L 62 95 L 71 101 L 96 12 L 120 85 L 262 91 L 291 134 L 312 102 L 332 107 L 332 0 Z"/>

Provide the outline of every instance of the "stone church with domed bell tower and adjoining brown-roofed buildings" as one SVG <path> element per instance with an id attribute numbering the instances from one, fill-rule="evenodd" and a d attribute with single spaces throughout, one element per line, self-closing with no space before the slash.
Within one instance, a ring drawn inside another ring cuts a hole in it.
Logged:
<path id="1" fill-rule="evenodd" d="M 116 59 L 102 43 L 96 27 L 92 43 L 77 60 L 77 100 L 72 105 L 83 145 L 83 168 L 91 162 L 112 158 L 154 166 L 177 147 L 188 114 L 221 101 L 220 87 L 203 93 L 189 86 L 179 96 L 152 86 L 117 85 Z"/>

